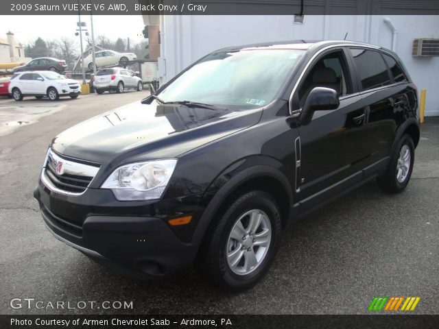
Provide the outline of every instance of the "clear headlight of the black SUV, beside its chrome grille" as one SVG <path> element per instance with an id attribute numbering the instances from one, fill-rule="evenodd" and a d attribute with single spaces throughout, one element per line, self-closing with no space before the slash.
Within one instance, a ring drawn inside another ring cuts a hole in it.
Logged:
<path id="1" fill-rule="evenodd" d="M 120 201 L 160 199 L 176 164 L 176 159 L 126 164 L 113 171 L 101 188 L 109 188 Z"/>

